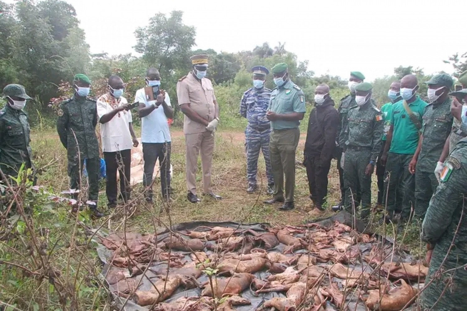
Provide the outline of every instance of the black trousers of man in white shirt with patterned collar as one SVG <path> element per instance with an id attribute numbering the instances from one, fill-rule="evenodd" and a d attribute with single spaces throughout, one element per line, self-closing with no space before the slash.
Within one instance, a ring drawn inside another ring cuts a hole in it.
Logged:
<path id="1" fill-rule="evenodd" d="M 106 195 L 109 205 L 117 204 L 117 170 L 120 175 L 120 198 L 123 202 L 130 199 L 131 149 L 117 152 L 104 152 L 106 160 Z"/>

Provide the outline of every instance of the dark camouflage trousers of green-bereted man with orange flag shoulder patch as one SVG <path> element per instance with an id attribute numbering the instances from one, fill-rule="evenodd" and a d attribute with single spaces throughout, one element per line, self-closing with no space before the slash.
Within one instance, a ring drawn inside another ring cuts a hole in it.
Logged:
<path id="1" fill-rule="evenodd" d="M 362 217 L 365 217 L 369 214 L 371 207 L 371 175 L 365 174 L 365 169 L 370 162 L 370 149 L 348 148 L 345 154 L 344 188 L 346 195 L 344 208 L 348 212 L 353 212 L 352 202 L 355 202 L 355 206 L 357 206 L 361 200 L 361 214 Z"/>

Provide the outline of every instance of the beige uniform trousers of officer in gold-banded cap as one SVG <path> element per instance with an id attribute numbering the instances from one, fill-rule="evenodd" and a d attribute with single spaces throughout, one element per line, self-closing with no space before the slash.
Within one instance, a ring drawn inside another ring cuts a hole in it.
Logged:
<path id="1" fill-rule="evenodd" d="M 211 166 L 214 151 L 214 134 L 210 131 L 197 134 L 185 134 L 186 146 L 186 187 L 196 195 L 196 171 L 198 155 L 201 151 L 201 167 L 203 169 L 203 191 L 212 193 Z"/>

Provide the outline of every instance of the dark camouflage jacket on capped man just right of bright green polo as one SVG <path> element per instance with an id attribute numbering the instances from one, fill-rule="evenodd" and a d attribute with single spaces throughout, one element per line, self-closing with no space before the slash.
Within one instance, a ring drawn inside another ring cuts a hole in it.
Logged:
<path id="1" fill-rule="evenodd" d="M 429 104 L 423 114 L 422 148 L 418 155 L 417 170 L 433 172 L 444 144 L 451 133 L 453 115 L 451 114 L 451 99 L 441 104 Z"/>

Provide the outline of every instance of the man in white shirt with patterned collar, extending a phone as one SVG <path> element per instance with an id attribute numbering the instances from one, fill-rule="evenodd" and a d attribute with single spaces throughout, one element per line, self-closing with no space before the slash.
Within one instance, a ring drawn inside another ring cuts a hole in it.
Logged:
<path id="1" fill-rule="evenodd" d="M 118 76 L 108 80 L 108 92 L 97 100 L 102 151 L 106 161 L 106 195 L 110 208 L 117 206 L 117 170 L 120 175 L 120 198 L 127 202 L 131 187 L 131 148 L 138 146 L 134 135 L 131 111 L 127 99 L 122 97 L 125 85 Z"/>

